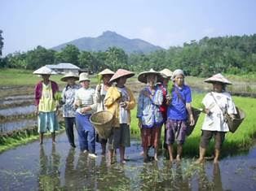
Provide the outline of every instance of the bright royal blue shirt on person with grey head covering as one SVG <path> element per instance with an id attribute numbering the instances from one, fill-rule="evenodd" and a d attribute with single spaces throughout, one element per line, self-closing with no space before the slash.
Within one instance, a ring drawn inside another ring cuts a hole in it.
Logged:
<path id="1" fill-rule="evenodd" d="M 182 99 L 179 98 L 175 89 L 179 92 L 180 97 Z M 172 100 L 170 106 L 168 107 L 167 118 L 179 120 L 188 119 L 188 111 L 185 102 L 192 102 L 191 89 L 188 87 L 188 85 L 183 85 L 181 89 L 174 85 L 174 88 L 172 89 L 171 92 L 171 96 Z"/>

